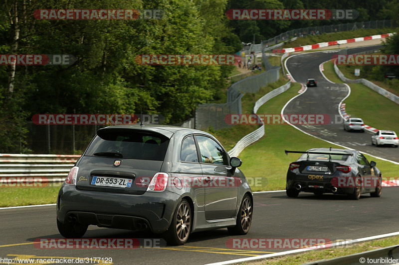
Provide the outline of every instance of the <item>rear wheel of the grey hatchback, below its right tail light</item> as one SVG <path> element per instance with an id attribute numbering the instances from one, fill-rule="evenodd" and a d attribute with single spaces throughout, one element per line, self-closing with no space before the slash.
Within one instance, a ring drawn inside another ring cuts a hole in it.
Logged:
<path id="1" fill-rule="evenodd" d="M 186 199 L 182 199 L 172 217 L 172 223 L 165 232 L 165 239 L 170 245 L 181 246 L 189 239 L 193 222 L 191 207 Z"/>

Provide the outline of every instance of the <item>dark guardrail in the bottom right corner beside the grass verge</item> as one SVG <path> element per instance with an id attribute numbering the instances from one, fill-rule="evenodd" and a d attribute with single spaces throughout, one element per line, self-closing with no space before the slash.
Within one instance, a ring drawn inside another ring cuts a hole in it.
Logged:
<path id="1" fill-rule="evenodd" d="M 361 260 L 364 259 L 364 260 Z M 373 262 L 368 262 L 373 259 Z M 390 262 L 389 259 L 394 260 Z M 399 261 L 399 245 L 383 249 L 366 251 L 330 260 L 307 263 L 306 265 L 359 265 L 359 264 L 397 264 Z"/>

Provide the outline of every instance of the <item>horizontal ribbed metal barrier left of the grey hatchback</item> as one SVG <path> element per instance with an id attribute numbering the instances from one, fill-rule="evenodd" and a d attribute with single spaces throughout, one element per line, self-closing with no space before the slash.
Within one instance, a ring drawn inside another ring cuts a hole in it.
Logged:
<path id="1" fill-rule="evenodd" d="M 49 182 L 63 181 L 79 155 L 0 154 L 0 179 L 45 177 Z M 18 182 L 18 181 L 17 181 Z"/>

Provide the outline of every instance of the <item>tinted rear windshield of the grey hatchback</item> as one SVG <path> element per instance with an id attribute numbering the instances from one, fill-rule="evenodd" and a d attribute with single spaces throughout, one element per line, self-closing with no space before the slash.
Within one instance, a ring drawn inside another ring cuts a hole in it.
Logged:
<path id="1" fill-rule="evenodd" d="M 163 161 L 169 138 L 134 130 L 99 131 L 85 156 Z"/>

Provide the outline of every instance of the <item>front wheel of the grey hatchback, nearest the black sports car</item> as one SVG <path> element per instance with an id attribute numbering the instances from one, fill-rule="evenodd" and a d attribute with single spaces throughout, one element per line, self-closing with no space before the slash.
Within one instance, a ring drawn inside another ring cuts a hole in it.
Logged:
<path id="1" fill-rule="evenodd" d="M 248 194 L 245 194 L 237 213 L 235 226 L 228 227 L 228 232 L 232 235 L 246 235 L 252 223 L 252 210 L 253 206 L 251 197 Z"/>

